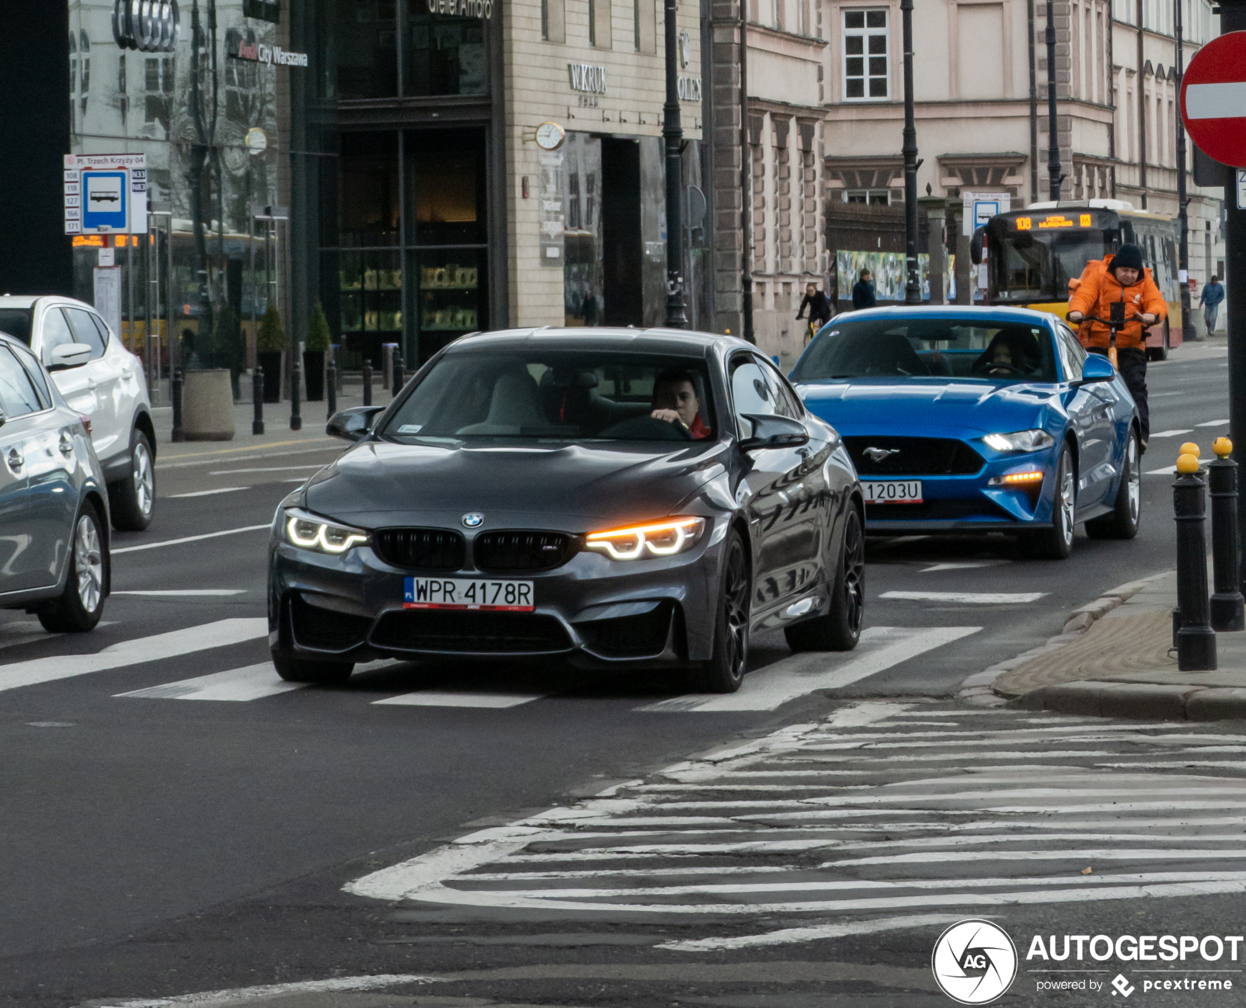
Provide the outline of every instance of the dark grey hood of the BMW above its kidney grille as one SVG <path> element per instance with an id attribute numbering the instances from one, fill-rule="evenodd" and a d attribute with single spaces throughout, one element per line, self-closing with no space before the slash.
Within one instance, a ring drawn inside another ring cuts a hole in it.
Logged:
<path id="1" fill-rule="evenodd" d="M 483 528 L 587 531 L 672 513 L 723 471 L 724 450 L 366 441 L 312 478 L 304 506 L 363 527 L 459 527 L 464 515 L 478 513 Z"/>

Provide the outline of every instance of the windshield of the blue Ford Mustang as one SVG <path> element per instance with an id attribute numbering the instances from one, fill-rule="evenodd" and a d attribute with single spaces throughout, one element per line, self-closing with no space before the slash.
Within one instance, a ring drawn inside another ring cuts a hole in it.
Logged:
<path id="1" fill-rule="evenodd" d="M 1055 381 L 1050 333 L 983 318 L 836 319 L 800 359 L 792 381 L 957 378 Z"/>

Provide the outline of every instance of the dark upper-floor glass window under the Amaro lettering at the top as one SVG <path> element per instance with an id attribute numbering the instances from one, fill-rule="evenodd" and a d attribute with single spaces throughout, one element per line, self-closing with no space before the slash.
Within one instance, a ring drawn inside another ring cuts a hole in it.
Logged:
<path id="1" fill-rule="evenodd" d="M 446 2 L 407 2 L 404 91 L 414 96 L 486 93 L 488 57 L 485 49 L 487 19 L 483 15 L 488 12 L 492 16 L 501 0 L 460 0 L 460 10 L 476 11 L 466 16 L 431 11 L 434 6 L 446 6 Z M 542 37 L 548 34 L 547 6 L 542 6 Z"/>

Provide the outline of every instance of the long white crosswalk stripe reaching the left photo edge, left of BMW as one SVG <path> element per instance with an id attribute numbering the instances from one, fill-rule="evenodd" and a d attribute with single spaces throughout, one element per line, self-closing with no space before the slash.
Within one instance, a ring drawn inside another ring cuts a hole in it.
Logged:
<path id="1" fill-rule="evenodd" d="M 122 640 L 120 644 L 111 644 L 95 654 L 57 654 L 50 658 L 12 662 L 7 665 L 0 665 L 0 692 L 59 679 L 71 679 L 92 672 L 140 665 L 146 662 L 162 662 L 209 648 L 240 644 L 258 637 L 268 637 L 268 620 L 264 618 L 218 619 L 214 623 L 204 623 L 198 627 L 140 637 L 135 640 Z"/>

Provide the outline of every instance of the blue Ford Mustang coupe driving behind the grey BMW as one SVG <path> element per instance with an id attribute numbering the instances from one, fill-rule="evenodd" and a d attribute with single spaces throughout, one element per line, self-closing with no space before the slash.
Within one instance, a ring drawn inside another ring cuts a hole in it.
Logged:
<path id="1" fill-rule="evenodd" d="M 1138 533 L 1138 409 L 1055 315 L 878 308 L 830 321 L 791 373 L 866 492 L 866 532 L 1008 532 L 1063 558 L 1073 530 Z"/>

